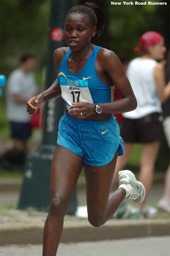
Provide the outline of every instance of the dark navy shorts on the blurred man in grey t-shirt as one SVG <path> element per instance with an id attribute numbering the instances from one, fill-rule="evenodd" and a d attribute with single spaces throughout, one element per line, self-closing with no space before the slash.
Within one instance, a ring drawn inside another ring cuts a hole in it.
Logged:
<path id="1" fill-rule="evenodd" d="M 19 140 L 27 140 L 31 136 L 30 123 L 10 122 L 11 138 Z"/>

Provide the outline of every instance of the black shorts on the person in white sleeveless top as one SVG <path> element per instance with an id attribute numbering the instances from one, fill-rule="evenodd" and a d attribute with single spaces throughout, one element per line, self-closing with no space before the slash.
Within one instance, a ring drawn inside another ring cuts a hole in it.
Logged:
<path id="1" fill-rule="evenodd" d="M 127 143 L 151 143 L 161 140 L 162 120 L 160 113 L 151 113 L 139 119 L 124 118 L 121 137 Z"/>

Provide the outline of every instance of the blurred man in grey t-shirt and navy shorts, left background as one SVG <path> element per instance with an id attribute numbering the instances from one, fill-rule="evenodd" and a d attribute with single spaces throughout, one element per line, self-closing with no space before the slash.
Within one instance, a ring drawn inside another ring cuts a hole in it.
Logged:
<path id="1" fill-rule="evenodd" d="M 26 112 L 26 102 L 37 93 L 35 67 L 34 54 L 24 53 L 20 57 L 20 67 L 7 79 L 6 109 L 11 134 L 7 151 L 0 157 L 1 166 L 6 169 L 21 168 L 26 159 L 27 142 L 31 136 L 31 117 Z"/>

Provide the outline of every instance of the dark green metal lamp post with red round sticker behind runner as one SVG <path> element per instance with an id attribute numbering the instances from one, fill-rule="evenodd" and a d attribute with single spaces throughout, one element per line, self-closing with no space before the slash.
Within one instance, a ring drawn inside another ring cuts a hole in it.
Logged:
<path id="1" fill-rule="evenodd" d="M 47 88 L 56 79 L 56 71 L 53 59 L 54 50 L 66 46 L 62 35 L 64 20 L 68 10 L 72 7 L 71 0 L 51 0 L 51 16 L 48 46 Z M 50 203 L 50 169 L 51 160 L 57 143 L 57 131 L 59 119 L 64 113 L 64 103 L 60 98 L 45 103 L 45 118 L 43 125 L 42 145 L 37 151 L 28 155 L 23 186 L 20 194 L 19 208 L 34 207 L 36 209 L 48 209 Z M 76 189 L 74 189 L 68 206 L 68 213 L 74 213 L 77 209 Z"/>

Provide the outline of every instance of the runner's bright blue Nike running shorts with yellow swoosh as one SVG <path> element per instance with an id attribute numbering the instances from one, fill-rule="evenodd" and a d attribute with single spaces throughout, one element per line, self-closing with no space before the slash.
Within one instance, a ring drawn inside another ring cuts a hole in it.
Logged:
<path id="1" fill-rule="evenodd" d="M 113 160 L 123 140 L 114 116 L 106 121 L 85 121 L 64 114 L 59 121 L 57 144 L 84 158 L 89 166 L 104 166 Z"/>

